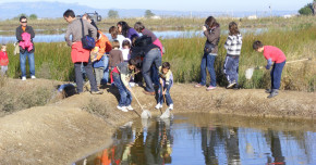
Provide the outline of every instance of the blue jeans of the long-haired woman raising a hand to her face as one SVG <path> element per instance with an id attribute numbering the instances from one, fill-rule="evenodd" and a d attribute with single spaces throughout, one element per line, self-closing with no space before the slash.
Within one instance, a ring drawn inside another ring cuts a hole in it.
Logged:
<path id="1" fill-rule="evenodd" d="M 215 54 L 207 54 L 204 53 L 200 62 L 200 85 L 206 85 L 206 67 L 208 69 L 208 73 L 210 75 L 210 86 L 216 87 L 216 73 L 214 69 L 214 62 L 215 62 L 216 55 Z"/>

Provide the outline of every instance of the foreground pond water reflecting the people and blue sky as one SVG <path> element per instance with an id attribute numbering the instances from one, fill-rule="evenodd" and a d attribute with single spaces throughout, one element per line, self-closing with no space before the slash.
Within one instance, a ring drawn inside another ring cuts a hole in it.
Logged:
<path id="1" fill-rule="evenodd" d="M 178 114 L 127 123 L 111 147 L 73 165 L 315 165 L 315 141 L 306 120 Z"/>

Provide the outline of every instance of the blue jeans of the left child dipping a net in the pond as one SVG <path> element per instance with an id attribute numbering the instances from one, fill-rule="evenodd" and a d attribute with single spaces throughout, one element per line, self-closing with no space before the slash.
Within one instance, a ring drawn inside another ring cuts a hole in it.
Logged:
<path id="1" fill-rule="evenodd" d="M 132 94 L 123 85 L 119 74 L 113 73 L 114 85 L 118 87 L 120 92 L 119 106 L 129 106 L 132 103 Z"/>

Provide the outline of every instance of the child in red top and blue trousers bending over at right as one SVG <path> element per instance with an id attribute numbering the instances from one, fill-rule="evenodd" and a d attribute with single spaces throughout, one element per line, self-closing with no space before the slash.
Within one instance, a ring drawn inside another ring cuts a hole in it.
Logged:
<path id="1" fill-rule="evenodd" d="M 257 52 L 263 52 L 265 59 L 267 60 L 268 64 L 266 66 L 267 69 L 270 69 L 272 62 L 275 62 L 272 69 L 271 69 L 271 89 L 267 89 L 266 92 L 270 93 L 268 98 L 274 98 L 278 96 L 282 69 L 285 65 L 287 58 L 284 53 L 277 47 L 272 46 L 264 46 L 260 41 L 255 41 L 253 43 L 253 48 Z"/>

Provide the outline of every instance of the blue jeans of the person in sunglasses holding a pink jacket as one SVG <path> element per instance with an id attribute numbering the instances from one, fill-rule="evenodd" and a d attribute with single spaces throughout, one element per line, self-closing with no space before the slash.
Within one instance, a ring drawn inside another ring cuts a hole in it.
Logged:
<path id="1" fill-rule="evenodd" d="M 20 65 L 21 65 L 22 77 L 26 77 L 26 67 L 25 67 L 26 56 L 28 59 L 29 74 L 31 76 L 35 76 L 34 53 L 29 53 L 25 51 L 24 53 L 20 53 Z"/>

